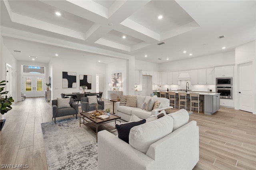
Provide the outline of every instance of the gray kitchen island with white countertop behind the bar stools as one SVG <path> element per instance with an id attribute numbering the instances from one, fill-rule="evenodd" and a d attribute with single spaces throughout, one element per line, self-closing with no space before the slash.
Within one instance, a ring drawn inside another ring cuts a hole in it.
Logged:
<path id="1" fill-rule="evenodd" d="M 155 92 L 155 91 L 154 91 Z M 186 91 L 172 91 L 176 93 L 176 98 L 179 99 L 178 93 L 186 93 Z M 157 96 L 160 97 L 160 93 L 156 92 Z M 202 111 L 206 115 L 212 115 L 220 109 L 220 93 L 214 92 L 198 92 L 198 91 L 188 91 L 187 99 L 190 99 L 189 93 L 199 93 L 199 99 L 203 101 Z M 168 91 L 166 91 L 166 97 L 168 97 Z"/>

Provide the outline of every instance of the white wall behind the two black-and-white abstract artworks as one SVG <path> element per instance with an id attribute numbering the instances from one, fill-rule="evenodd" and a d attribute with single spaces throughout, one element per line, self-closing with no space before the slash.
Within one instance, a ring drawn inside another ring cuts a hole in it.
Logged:
<path id="1" fill-rule="evenodd" d="M 96 92 L 96 74 L 106 75 L 106 64 L 87 63 L 86 60 L 52 58 L 49 65 L 52 66 L 52 100 L 60 98 L 61 93 L 82 93 L 83 90 L 79 89 L 79 75 L 92 75 L 92 89 L 86 92 Z M 76 72 L 76 88 L 62 88 L 62 71 Z"/>

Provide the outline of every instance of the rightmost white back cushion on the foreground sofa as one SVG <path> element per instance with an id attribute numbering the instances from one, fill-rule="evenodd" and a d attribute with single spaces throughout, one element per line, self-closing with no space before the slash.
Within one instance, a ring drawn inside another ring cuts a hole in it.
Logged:
<path id="1" fill-rule="evenodd" d="M 173 119 L 173 131 L 187 124 L 189 119 L 188 111 L 185 109 L 180 109 L 179 111 L 170 113 L 168 116 Z"/>

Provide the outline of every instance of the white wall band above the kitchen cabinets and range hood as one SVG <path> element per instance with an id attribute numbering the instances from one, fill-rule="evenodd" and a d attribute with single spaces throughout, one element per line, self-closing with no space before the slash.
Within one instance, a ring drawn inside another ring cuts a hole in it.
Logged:
<path id="1" fill-rule="evenodd" d="M 230 64 L 235 64 L 235 51 L 161 63 L 159 64 L 159 72 L 192 70 Z"/>

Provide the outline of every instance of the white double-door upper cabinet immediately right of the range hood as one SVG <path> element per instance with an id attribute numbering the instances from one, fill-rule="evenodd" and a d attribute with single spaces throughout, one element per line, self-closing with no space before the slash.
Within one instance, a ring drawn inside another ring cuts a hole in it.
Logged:
<path id="1" fill-rule="evenodd" d="M 198 69 L 190 71 L 191 84 L 206 84 L 206 69 Z"/>

